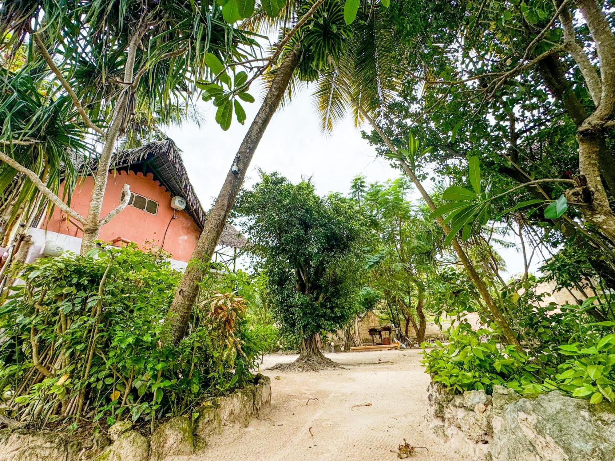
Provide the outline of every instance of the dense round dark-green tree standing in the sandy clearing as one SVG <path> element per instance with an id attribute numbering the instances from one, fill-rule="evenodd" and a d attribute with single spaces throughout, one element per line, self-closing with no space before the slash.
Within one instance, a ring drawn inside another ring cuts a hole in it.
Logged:
<path id="1" fill-rule="evenodd" d="M 234 210 L 268 275 L 275 320 L 301 337 L 295 363 L 303 369 L 331 364 L 318 349 L 317 334 L 341 328 L 361 309 L 367 229 L 354 204 L 338 195 L 319 197 L 310 181 L 292 184 L 261 172 Z"/>

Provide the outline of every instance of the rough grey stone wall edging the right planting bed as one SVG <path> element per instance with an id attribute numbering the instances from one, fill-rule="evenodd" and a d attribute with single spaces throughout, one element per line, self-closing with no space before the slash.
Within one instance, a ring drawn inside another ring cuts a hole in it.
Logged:
<path id="1" fill-rule="evenodd" d="M 591 405 L 561 392 L 523 397 L 494 386 L 493 395 L 452 395 L 432 383 L 428 417 L 451 449 L 485 461 L 615 460 L 615 405 Z"/>

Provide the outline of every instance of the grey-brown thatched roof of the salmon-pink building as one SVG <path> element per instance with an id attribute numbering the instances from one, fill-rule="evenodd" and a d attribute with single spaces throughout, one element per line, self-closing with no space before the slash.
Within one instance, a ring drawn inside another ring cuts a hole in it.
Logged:
<path id="1" fill-rule="evenodd" d="M 95 170 L 96 164 L 97 159 L 93 159 L 87 167 Z M 171 194 L 186 199 L 186 213 L 194 219 L 200 229 L 203 229 L 207 215 L 188 179 L 186 167 L 181 160 L 181 151 L 173 140 L 154 141 L 139 148 L 117 151 L 111 162 L 111 168 L 132 171 L 138 168 L 143 174 L 152 173 L 154 179 L 160 181 Z M 246 240 L 234 226 L 226 224 L 218 243 L 242 248 Z"/>

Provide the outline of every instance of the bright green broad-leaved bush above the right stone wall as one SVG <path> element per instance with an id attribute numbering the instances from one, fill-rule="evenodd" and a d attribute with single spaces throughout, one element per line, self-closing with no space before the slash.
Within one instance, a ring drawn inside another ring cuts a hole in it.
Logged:
<path id="1" fill-rule="evenodd" d="M 491 393 L 499 384 L 523 395 L 559 390 L 590 403 L 615 402 L 615 334 L 606 333 L 613 322 L 577 323 L 575 334 L 564 333 L 565 328 L 563 334 L 554 333 L 554 323 L 569 321 L 584 309 L 566 310 L 575 308 L 576 314 L 552 313 L 542 320 L 536 316 L 534 321 L 544 325 L 534 331 L 543 342 L 528 342 L 523 351 L 501 345 L 494 331 L 474 331 L 467 323 L 451 327 L 449 344 L 425 345 L 426 371 L 433 381 L 457 393 L 478 389 Z"/>

